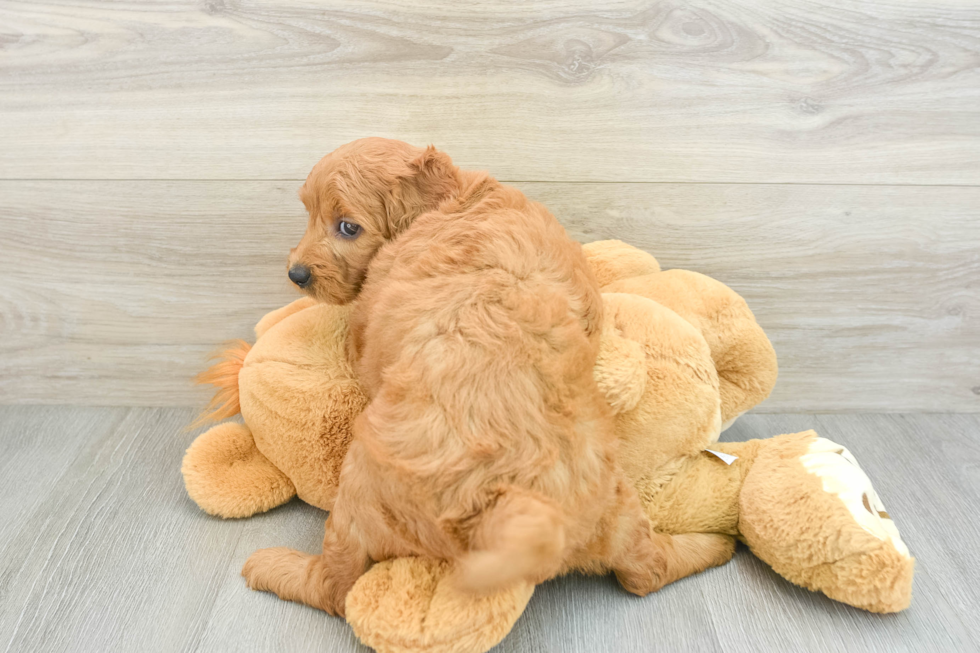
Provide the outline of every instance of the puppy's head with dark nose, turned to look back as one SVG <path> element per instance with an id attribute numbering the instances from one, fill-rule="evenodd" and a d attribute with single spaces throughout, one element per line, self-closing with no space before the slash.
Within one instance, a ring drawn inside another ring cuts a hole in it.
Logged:
<path id="1" fill-rule="evenodd" d="M 365 138 L 337 148 L 300 188 L 310 219 L 290 280 L 319 301 L 351 301 L 378 249 L 458 188 L 452 160 L 432 146 Z"/>

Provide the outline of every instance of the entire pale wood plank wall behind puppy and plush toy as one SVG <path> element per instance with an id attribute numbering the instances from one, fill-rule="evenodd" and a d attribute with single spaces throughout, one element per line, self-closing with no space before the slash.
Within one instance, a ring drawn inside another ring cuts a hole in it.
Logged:
<path id="1" fill-rule="evenodd" d="M 980 411 L 980 5 L 0 3 L 0 402 L 181 405 L 296 188 L 435 143 L 741 292 L 768 411 Z"/>

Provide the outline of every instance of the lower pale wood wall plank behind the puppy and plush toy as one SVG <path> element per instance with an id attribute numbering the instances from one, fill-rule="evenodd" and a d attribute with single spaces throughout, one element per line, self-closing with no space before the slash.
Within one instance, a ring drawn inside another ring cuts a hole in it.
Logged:
<path id="1" fill-rule="evenodd" d="M 296 182 L 0 182 L 0 403 L 202 405 L 190 379 L 297 295 Z M 980 411 L 980 189 L 519 186 L 749 301 L 760 410 Z"/>

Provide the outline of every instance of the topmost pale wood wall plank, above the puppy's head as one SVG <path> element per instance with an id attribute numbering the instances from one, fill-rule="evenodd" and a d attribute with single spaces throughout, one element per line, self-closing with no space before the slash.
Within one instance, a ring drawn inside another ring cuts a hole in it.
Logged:
<path id="1" fill-rule="evenodd" d="M 980 183 L 959 0 L 6 0 L 0 177 L 300 179 L 365 135 L 508 180 Z"/>

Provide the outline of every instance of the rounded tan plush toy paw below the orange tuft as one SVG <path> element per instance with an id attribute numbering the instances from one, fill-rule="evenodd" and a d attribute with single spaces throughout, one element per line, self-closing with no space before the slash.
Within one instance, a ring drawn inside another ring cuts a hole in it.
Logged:
<path id="1" fill-rule="evenodd" d="M 289 501 L 292 482 L 255 447 L 243 424 L 219 424 L 197 437 L 184 454 L 184 486 L 205 512 L 250 517 Z"/>

